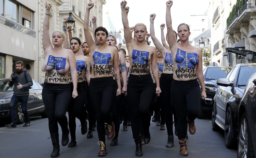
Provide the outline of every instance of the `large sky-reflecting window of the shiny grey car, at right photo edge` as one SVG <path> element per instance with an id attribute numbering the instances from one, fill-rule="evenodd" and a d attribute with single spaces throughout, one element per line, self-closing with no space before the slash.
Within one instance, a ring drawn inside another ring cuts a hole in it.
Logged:
<path id="1" fill-rule="evenodd" d="M 246 86 L 249 78 L 252 76 L 253 73 L 256 72 L 256 67 L 252 66 L 241 66 L 240 73 L 238 75 L 238 86 Z"/>

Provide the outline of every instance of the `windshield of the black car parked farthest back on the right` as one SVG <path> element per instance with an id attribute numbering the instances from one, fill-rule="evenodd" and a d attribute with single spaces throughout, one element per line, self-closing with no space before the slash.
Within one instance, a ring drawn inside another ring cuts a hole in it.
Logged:
<path id="1" fill-rule="evenodd" d="M 205 79 L 206 80 L 218 80 L 219 78 L 224 78 L 230 68 L 225 67 L 225 68 L 219 68 L 219 67 L 209 67 Z"/>

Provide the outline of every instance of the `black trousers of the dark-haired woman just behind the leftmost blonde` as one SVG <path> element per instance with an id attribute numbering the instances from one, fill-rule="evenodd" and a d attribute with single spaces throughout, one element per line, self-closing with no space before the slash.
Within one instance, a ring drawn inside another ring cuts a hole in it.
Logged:
<path id="1" fill-rule="evenodd" d="M 87 100 L 87 85 L 86 82 L 77 83 L 78 96 L 74 99 L 71 97 L 68 110 L 68 126 L 70 130 L 70 136 L 72 139 L 76 138 L 76 117 L 80 120 L 81 124 L 85 123 L 85 101 Z M 71 83 L 70 89 L 73 90 L 73 84 Z"/>

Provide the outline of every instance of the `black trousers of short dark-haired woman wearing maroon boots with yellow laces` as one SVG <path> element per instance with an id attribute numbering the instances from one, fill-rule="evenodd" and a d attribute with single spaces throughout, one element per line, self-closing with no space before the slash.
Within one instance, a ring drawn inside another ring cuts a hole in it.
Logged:
<path id="1" fill-rule="evenodd" d="M 115 92 L 113 77 L 91 78 L 89 85 L 89 98 L 97 120 L 97 132 L 99 141 L 105 141 L 104 122 L 111 125 L 112 115 L 110 112 Z"/>

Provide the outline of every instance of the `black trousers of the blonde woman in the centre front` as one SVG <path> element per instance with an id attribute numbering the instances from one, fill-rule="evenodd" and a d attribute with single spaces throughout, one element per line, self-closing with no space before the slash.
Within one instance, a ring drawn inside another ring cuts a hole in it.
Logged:
<path id="1" fill-rule="evenodd" d="M 131 127 L 135 143 L 140 143 L 140 120 L 144 131 L 150 126 L 150 104 L 154 96 L 154 85 L 151 75 L 130 74 L 127 84 L 127 99 L 131 115 Z"/>

